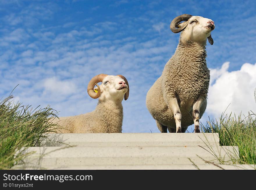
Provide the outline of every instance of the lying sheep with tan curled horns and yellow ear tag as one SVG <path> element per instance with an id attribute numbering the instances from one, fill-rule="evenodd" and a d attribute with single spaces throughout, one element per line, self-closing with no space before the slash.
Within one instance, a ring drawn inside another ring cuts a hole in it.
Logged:
<path id="1" fill-rule="evenodd" d="M 97 83 L 102 82 L 99 86 Z M 97 85 L 96 88 L 94 86 Z M 56 118 L 62 133 L 121 133 L 123 121 L 122 100 L 129 97 L 129 84 L 122 75 L 99 74 L 87 88 L 91 98 L 99 98 L 93 112 Z"/>

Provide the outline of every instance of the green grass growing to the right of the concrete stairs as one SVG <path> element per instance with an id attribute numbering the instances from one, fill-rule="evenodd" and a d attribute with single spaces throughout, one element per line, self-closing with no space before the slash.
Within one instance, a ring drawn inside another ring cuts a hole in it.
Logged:
<path id="1" fill-rule="evenodd" d="M 225 112 L 224 112 L 225 113 Z M 237 117 L 221 115 L 219 120 L 210 120 L 207 125 L 201 124 L 203 132 L 214 132 L 219 134 L 221 146 L 238 146 L 239 164 L 256 164 L 256 115 Z"/>

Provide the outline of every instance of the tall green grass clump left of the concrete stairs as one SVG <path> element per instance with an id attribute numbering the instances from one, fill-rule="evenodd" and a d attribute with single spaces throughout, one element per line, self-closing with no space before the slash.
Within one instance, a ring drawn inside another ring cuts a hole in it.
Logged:
<path id="1" fill-rule="evenodd" d="M 56 110 L 48 107 L 31 108 L 10 101 L 9 96 L 0 102 L 0 169 L 10 169 L 17 161 L 31 153 L 16 150 L 35 146 L 41 138 L 60 127 L 52 120 L 57 117 Z"/>

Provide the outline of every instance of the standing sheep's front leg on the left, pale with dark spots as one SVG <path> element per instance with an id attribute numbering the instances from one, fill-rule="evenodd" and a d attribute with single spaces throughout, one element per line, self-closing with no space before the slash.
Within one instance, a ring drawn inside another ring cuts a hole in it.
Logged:
<path id="1" fill-rule="evenodd" d="M 174 115 L 174 119 L 176 123 L 176 133 L 181 133 L 181 112 L 179 109 L 177 98 L 171 98 L 169 105 Z"/>

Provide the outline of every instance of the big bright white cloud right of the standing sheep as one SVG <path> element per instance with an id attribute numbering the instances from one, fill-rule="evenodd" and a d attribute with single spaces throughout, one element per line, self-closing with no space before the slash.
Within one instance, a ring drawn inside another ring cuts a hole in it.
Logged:
<path id="1" fill-rule="evenodd" d="M 225 114 L 247 116 L 250 110 L 256 111 L 256 63 L 244 63 L 240 70 L 232 72 L 228 72 L 228 67 L 226 62 L 220 69 L 211 70 L 206 112 L 215 118 L 219 118 L 229 104 Z"/>

